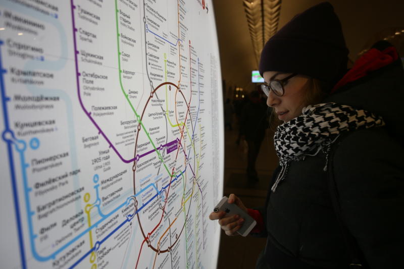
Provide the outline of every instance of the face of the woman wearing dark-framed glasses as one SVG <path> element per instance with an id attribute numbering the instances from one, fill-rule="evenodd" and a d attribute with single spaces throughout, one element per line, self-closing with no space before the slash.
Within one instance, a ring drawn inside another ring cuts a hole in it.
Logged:
<path id="1" fill-rule="evenodd" d="M 291 75 L 291 73 L 281 73 L 274 71 L 264 72 L 264 80 L 266 84 L 273 79 L 283 79 Z M 294 76 L 283 83 L 284 94 L 276 95 L 272 90 L 269 91 L 267 105 L 272 107 L 278 119 L 288 122 L 301 114 L 301 110 L 307 104 L 305 103 L 306 83 L 309 78 L 306 76 Z"/>

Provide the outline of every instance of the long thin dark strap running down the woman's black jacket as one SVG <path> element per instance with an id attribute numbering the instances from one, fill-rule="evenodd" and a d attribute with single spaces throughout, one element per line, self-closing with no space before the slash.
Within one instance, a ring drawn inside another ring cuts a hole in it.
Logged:
<path id="1" fill-rule="evenodd" d="M 345 137 L 345 135 L 343 135 L 343 137 Z M 344 223 L 342 221 L 341 207 L 339 204 L 339 194 L 338 194 L 338 190 L 337 190 L 337 186 L 336 186 L 336 182 L 335 182 L 334 166 L 333 166 L 335 149 L 336 149 L 337 145 L 339 144 L 339 142 L 341 141 L 341 139 L 338 139 L 338 140 L 339 141 L 336 141 L 336 143 L 334 143 L 334 146 L 333 146 L 333 149 L 331 150 L 331 152 L 329 152 L 330 158 L 329 158 L 328 167 L 327 167 L 328 188 L 330 191 L 332 207 L 334 209 L 335 216 L 337 218 L 340 230 L 342 232 L 342 236 L 345 241 L 345 245 L 347 247 L 347 250 L 348 250 L 348 253 L 350 256 L 349 269 L 364 269 L 367 266 L 364 266 L 364 263 L 361 261 L 361 260 L 363 260 L 363 258 L 360 258 L 360 257 L 362 257 L 363 255 L 360 254 L 361 251 L 359 250 L 356 239 L 348 231 L 348 229 L 346 228 L 346 226 L 344 225 Z"/>

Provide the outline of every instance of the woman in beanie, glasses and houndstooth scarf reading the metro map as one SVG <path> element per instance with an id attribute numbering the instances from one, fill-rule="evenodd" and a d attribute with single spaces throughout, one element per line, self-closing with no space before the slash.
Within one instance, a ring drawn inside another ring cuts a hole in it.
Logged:
<path id="1" fill-rule="evenodd" d="M 404 72 L 378 42 L 346 72 L 329 3 L 294 17 L 265 45 L 260 73 L 278 126 L 263 207 L 246 208 L 267 237 L 257 268 L 401 268 L 404 253 Z M 229 236 L 243 220 L 212 212 Z"/>

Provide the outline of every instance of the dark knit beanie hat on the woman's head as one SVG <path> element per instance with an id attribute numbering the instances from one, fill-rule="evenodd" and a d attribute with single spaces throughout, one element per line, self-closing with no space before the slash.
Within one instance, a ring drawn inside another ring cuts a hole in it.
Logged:
<path id="1" fill-rule="evenodd" d="M 296 15 L 268 40 L 260 74 L 298 73 L 333 85 L 346 72 L 348 52 L 334 8 L 324 2 Z"/>

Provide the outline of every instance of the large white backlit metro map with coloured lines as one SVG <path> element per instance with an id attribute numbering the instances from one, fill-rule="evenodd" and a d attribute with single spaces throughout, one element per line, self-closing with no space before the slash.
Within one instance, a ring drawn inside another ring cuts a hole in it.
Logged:
<path id="1" fill-rule="evenodd" d="M 2 268 L 215 268 L 211 1 L 2 0 Z"/>

